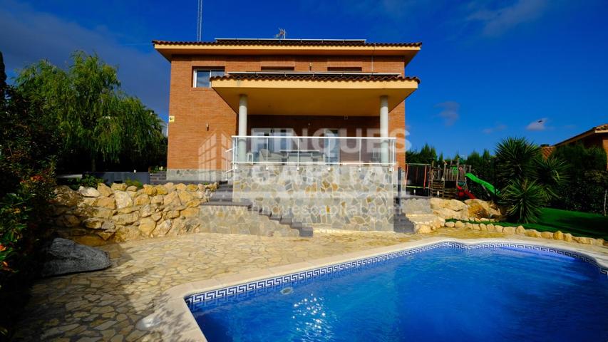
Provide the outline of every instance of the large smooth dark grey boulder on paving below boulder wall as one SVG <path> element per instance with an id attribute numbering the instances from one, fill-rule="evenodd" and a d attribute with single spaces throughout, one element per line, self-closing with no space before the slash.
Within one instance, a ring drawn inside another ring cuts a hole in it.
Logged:
<path id="1" fill-rule="evenodd" d="M 108 253 L 58 237 L 44 249 L 42 276 L 97 271 L 110 265 Z"/>

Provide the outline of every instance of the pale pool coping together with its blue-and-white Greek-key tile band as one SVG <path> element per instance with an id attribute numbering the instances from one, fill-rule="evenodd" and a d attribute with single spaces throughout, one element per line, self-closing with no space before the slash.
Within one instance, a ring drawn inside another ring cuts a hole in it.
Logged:
<path id="1" fill-rule="evenodd" d="M 436 237 L 174 286 L 159 297 L 160 302 L 157 303 L 155 314 L 144 318 L 142 324 L 161 331 L 170 341 L 184 341 L 184 338 L 187 338 L 187 341 L 207 341 L 190 311 L 194 304 L 355 269 L 439 247 L 459 249 L 509 247 L 550 252 L 585 261 L 597 267 L 601 274 L 608 276 L 608 252 L 602 254 L 567 245 L 556 247 L 555 243 L 542 240 L 517 242 L 512 239 L 462 240 Z"/>

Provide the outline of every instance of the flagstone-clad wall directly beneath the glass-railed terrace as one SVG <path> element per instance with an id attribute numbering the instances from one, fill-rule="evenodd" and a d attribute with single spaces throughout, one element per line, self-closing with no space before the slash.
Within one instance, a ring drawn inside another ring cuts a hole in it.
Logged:
<path id="1" fill-rule="evenodd" d="M 388 167 L 239 165 L 235 201 L 319 229 L 392 231 L 395 175 Z"/>

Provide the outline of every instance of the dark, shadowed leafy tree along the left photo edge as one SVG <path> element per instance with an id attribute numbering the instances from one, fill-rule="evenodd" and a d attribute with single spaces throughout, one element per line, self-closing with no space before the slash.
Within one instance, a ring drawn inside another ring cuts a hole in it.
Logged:
<path id="1" fill-rule="evenodd" d="M 14 326 L 49 232 L 58 135 L 53 120 L 6 85 L 0 53 L 0 340 Z"/>

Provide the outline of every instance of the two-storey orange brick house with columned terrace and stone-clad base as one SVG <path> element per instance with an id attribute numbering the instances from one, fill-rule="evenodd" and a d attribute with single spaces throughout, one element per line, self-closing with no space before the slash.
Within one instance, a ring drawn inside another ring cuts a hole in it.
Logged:
<path id="1" fill-rule="evenodd" d="M 421 43 L 153 43 L 171 63 L 168 180 L 232 180 L 235 201 L 313 226 L 393 229 Z"/>

